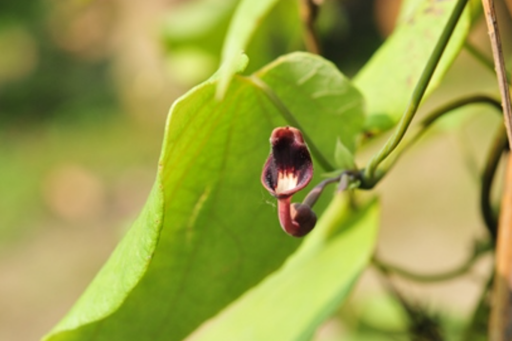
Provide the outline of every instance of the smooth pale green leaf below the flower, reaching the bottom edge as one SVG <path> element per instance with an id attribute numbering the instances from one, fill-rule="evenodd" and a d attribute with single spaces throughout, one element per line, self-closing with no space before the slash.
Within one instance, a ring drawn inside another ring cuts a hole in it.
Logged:
<path id="1" fill-rule="evenodd" d="M 342 193 L 332 200 L 312 238 L 279 271 L 208 321 L 189 341 L 311 339 L 365 268 L 376 240 L 376 202 L 350 212 Z M 330 235 L 334 232 L 333 237 Z"/>

